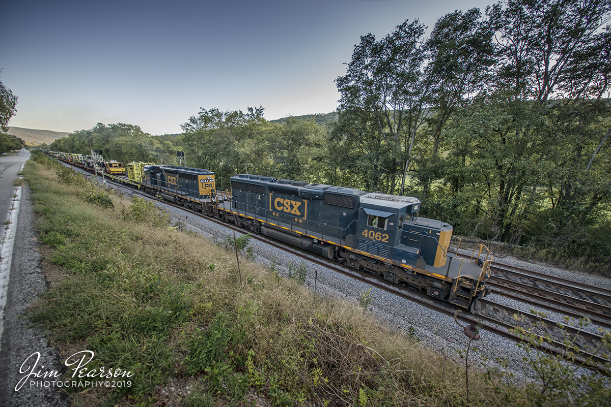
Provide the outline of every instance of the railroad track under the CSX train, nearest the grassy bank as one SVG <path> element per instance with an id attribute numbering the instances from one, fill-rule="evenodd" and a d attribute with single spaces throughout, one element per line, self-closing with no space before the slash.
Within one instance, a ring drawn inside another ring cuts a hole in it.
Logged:
<path id="1" fill-rule="evenodd" d="M 93 175 L 90 175 L 90 176 L 93 177 Z M 113 181 L 106 180 L 106 182 L 111 185 L 125 187 L 124 185 L 113 182 Z M 152 199 L 150 195 L 142 193 L 141 191 L 137 189 L 130 189 L 130 191 L 132 193 L 140 194 L 142 196 Z M 243 228 L 237 227 L 235 225 L 227 224 L 225 222 L 220 221 L 219 219 L 212 218 L 200 212 L 185 208 L 182 205 L 178 205 L 176 203 L 172 203 L 166 200 L 163 200 L 161 202 L 171 207 L 175 207 L 180 210 L 183 210 L 186 213 L 189 213 L 194 216 L 198 216 L 200 218 L 207 219 L 210 222 L 214 222 L 216 224 L 222 225 L 226 228 L 229 228 L 230 230 L 235 230 L 238 233 L 250 233 L 249 230 L 244 230 Z M 507 338 L 515 342 L 522 342 L 525 344 L 530 344 L 530 342 L 527 341 L 525 338 L 521 337 L 519 334 L 514 333 L 516 324 L 518 326 L 524 327 L 525 320 L 527 320 L 528 324 L 530 324 L 530 326 L 528 326 L 529 328 L 538 327 L 540 329 L 541 326 L 546 327 L 544 328 L 546 331 L 535 333 L 535 334 L 540 335 L 541 338 L 543 338 L 543 335 L 545 334 L 552 335 L 552 336 L 554 335 L 558 336 L 561 334 L 560 328 L 557 327 L 557 322 L 550 321 L 550 320 L 543 320 L 542 322 L 541 319 L 536 318 L 536 317 L 533 318 L 532 316 L 530 316 L 529 314 L 525 314 L 521 310 L 516 310 L 516 309 L 510 308 L 508 306 L 505 306 L 499 303 L 494 303 L 494 302 L 490 302 L 485 299 L 481 299 L 480 304 L 478 304 L 476 313 L 472 316 L 467 316 L 464 313 L 456 313 L 455 310 L 449 308 L 445 304 L 438 304 L 438 303 L 431 302 L 430 299 L 425 299 L 425 297 L 421 296 L 417 292 L 414 292 L 414 291 L 411 291 L 405 288 L 395 288 L 389 285 L 390 283 L 386 280 L 382 280 L 381 278 L 374 277 L 368 274 L 362 275 L 360 274 L 360 272 L 354 269 L 346 268 L 346 266 L 344 266 L 343 264 L 335 263 L 327 258 L 319 257 L 313 253 L 304 252 L 302 250 L 295 249 L 294 247 L 286 246 L 285 244 L 274 241 L 273 239 L 267 238 L 266 236 L 252 234 L 252 238 L 257 239 L 258 241 L 265 242 L 266 244 L 269 244 L 270 246 L 274 246 L 281 250 L 285 250 L 288 253 L 296 255 L 314 264 L 318 264 L 322 267 L 326 267 L 327 269 L 331 269 L 334 272 L 338 272 L 342 275 L 346 275 L 347 277 L 353 278 L 354 280 L 362 281 L 378 289 L 390 292 L 397 297 L 409 300 L 411 302 L 415 302 L 422 306 L 426 306 L 427 308 L 430 308 L 431 310 L 437 311 L 439 313 L 442 313 L 448 316 L 454 316 L 456 319 L 461 320 L 465 322 L 466 324 L 477 326 L 480 329 L 489 331 L 491 333 L 497 334 L 499 336 L 502 336 L 503 338 Z M 521 299 L 521 300 L 524 300 L 524 299 Z M 518 316 L 517 319 L 513 317 L 514 315 Z M 575 316 L 576 315 L 577 314 L 575 314 Z M 572 327 L 566 328 L 566 329 L 571 338 L 571 343 L 576 344 L 577 347 L 580 349 L 579 352 L 577 352 L 577 356 L 573 360 L 573 363 L 582 364 L 583 367 L 587 369 L 591 369 L 591 370 L 596 370 L 599 373 L 602 373 L 604 375 L 611 375 L 611 370 L 608 367 L 606 367 L 611 363 L 611 355 L 605 352 L 600 352 L 600 351 L 597 352 L 596 354 L 591 354 L 591 353 L 588 353 L 587 350 L 585 350 L 587 348 L 601 349 L 602 348 L 601 347 L 602 336 L 596 335 L 593 333 L 588 333 L 585 331 L 580 331 L 579 329 L 572 328 Z M 560 338 L 558 339 L 559 339 L 558 341 L 551 341 L 546 346 L 537 347 L 537 349 L 543 352 L 547 352 L 551 355 L 557 355 L 557 356 L 565 355 L 567 352 L 565 344 L 563 344 L 560 341 Z M 588 360 L 590 361 L 590 363 L 586 363 L 586 361 Z"/>

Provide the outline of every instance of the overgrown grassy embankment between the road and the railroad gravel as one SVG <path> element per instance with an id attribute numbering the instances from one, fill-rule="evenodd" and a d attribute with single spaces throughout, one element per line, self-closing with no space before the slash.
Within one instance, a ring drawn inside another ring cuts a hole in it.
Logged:
<path id="1" fill-rule="evenodd" d="M 235 253 L 155 225 L 143 202 L 84 202 L 106 201 L 37 160 L 46 165 L 30 160 L 23 175 L 54 266 L 34 319 L 62 360 L 89 349 L 88 368 L 134 373 L 131 388 L 75 391 L 76 405 L 504 406 L 519 397 L 471 372 L 467 400 L 461 367 L 360 308 L 315 299 L 247 260 L 240 284 Z"/>

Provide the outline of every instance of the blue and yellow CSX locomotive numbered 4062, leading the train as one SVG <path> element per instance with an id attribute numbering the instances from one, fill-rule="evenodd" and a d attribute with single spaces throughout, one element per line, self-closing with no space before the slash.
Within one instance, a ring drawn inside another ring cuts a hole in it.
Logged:
<path id="1" fill-rule="evenodd" d="M 449 253 L 452 226 L 414 197 L 240 174 L 208 214 L 462 308 L 485 294 L 489 255 Z"/>

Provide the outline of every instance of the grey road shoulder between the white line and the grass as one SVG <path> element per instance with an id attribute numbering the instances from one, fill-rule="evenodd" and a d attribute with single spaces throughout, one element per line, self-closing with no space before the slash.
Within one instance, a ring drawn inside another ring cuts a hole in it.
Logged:
<path id="1" fill-rule="evenodd" d="M 45 333 L 27 317 L 31 306 L 48 286 L 40 267 L 42 255 L 38 233 L 34 230 L 35 214 L 29 197 L 29 188 L 24 186 L 4 310 L 0 352 L 0 377 L 4 377 L 4 380 L 0 381 L 0 405 L 68 406 L 65 391 L 50 383 L 56 379 L 35 377 L 37 373 L 43 375 L 51 370 L 64 370 L 59 351 L 51 347 Z M 35 366 L 35 373 L 32 373 L 37 353 L 40 353 L 40 359 Z M 27 377 L 29 373 L 32 375 Z M 20 381 L 24 383 L 15 391 Z"/>

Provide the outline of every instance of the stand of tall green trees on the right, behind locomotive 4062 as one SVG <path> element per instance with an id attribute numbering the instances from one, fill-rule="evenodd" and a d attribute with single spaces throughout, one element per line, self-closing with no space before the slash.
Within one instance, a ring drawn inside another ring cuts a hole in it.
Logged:
<path id="1" fill-rule="evenodd" d="M 419 196 L 459 233 L 584 253 L 609 230 L 610 13 L 507 0 L 360 37 L 336 81 L 332 180 Z"/>

